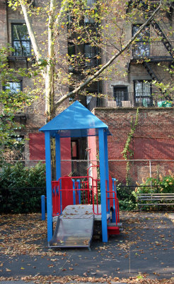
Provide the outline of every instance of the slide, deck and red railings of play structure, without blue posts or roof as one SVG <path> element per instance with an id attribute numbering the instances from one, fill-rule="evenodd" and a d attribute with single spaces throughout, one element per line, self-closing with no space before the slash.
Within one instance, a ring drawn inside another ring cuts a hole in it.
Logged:
<path id="1" fill-rule="evenodd" d="M 51 247 L 90 246 L 93 222 L 101 217 L 99 183 L 100 180 L 89 175 L 52 181 L 52 216 L 58 218 L 54 236 L 49 242 Z M 110 176 L 109 185 L 110 189 L 106 191 L 108 236 L 120 233 L 116 180 Z"/>

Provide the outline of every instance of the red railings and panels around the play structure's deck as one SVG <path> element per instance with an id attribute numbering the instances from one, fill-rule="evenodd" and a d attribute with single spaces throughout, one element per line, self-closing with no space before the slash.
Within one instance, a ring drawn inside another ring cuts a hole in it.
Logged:
<path id="1" fill-rule="evenodd" d="M 89 179 L 91 179 L 91 188 L 89 186 Z M 73 204 L 92 204 L 93 214 L 100 215 L 98 202 L 98 181 L 91 176 L 83 177 L 62 177 L 59 180 L 52 181 L 52 216 L 62 214 L 63 209 L 67 205 Z M 117 193 L 115 190 L 106 190 L 106 204 L 107 212 L 108 200 L 115 212 L 116 224 L 119 222 L 119 203 Z"/>

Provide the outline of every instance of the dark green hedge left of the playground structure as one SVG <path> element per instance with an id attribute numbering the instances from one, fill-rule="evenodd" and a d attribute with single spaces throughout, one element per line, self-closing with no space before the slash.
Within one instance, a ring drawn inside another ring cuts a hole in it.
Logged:
<path id="1" fill-rule="evenodd" d="M 4 165 L 0 181 L 0 212 L 40 212 L 40 197 L 46 193 L 44 164 L 32 168 L 22 163 Z"/>

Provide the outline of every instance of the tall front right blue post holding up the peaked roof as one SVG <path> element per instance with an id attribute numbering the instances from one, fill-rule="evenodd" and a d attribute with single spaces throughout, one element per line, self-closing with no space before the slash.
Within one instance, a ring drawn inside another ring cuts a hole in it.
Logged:
<path id="1" fill-rule="evenodd" d="M 106 189 L 105 189 L 105 143 L 104 131 L 98 129 L 99 138 L 99 158 L 100 158 L 100 192 L 101 192 L 101 212 L 102 212 L 102 239 L 108 241 L 107 212 L 106 212 Z"/>

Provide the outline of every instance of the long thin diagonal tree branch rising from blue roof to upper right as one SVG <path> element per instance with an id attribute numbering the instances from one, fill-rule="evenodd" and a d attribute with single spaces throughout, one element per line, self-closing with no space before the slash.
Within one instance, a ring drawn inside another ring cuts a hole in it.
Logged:
<path id="1" fill-rule="evenodd" d="M 103 67 L 100 68 L 100 70 L 98 70 L 97 72 L 95 72 L 91 77 L 88 77 L 88 79 L 83 82 L 82 84 L 80 84 L 79 87 L 77 87 L 76 89 L 74 89 L 72 92 L 69 92 L 68 94 L 64 94 L 63 97 L 61 97 L 55 104 L 55 107 L 57 109 L 57 107 L 59 107 L 60 104 L 62 104 L 62 102 L 64 102 L 65 99 L 68 99 L 69 97 L 71 97 L 71 95 L 76 94 L 77 92 L 81 91 L 82 89 L 84 89 L 88 84 L 90 84 L 95 78 L 97 78 L 108 66 L 111 65 L 111 63 L 118 57 L 120 56 L 122 53 L 124 53 L 124 50 L 127 50 L 127 48 L 129 48 L 129 46 L 133 43 L 133 41 L 137 38 L 137 35 L 139 35 L 139 33 L 141 33 L 141 31 L 143 31 L 143 29 L 145 28 L 145 26 L 147 26 L 154 18 L 154 16 L 156 15 L 156 13 L 158 13 L 158 11 L 161 9 L 161 4 L 158 6 L 158 8 L 151 14 L 151 16 L 148 18 L 148 20 L 139 28 L 139 30 L 137 31 L 137 33 L 135 33 L 134 36 L 132 36 L 132 38 L 129 40 L 129 42 L 124 46 L 124 48 L 122 48 L 122 50 L 120 50 L 118 53 L 116 53 L 115 55 L 112 56 L 112 58 L 110 58 L 110 60 L 103 65 Z"/>

